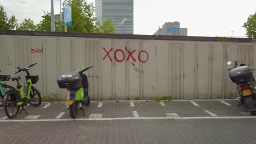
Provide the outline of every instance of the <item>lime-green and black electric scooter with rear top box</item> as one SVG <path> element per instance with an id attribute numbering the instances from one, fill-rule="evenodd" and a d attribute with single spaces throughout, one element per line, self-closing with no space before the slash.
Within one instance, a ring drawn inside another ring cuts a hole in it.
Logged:
<path id="1" fill-rule="evenodd" d="M 57 79 L 60 88 L 67 88 L 66 105 L 69 106 L 69 113 L 72 118 L 77 118 L 78 110 L 82 109 L 85 116 L 85 106 L 90 104 L 88 96 L 89 83 L 84 71 L 90 69 L 79 68 L 75 73 L 63 73 Z"/>

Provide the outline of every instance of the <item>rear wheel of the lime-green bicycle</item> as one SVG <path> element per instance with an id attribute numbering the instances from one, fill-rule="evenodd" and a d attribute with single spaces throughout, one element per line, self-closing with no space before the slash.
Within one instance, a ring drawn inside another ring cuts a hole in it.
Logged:
<path id="1" fill-rule="evenodd" d="M 15 103 L 15 101 L 19 99 L 18 94 L 19 92 L 16 91 L 16 89 L 10 89 L 4 96 L 3 104 L 5 115 L 10 119 L 15 118 L 20 110 L 20 106 Z"/>

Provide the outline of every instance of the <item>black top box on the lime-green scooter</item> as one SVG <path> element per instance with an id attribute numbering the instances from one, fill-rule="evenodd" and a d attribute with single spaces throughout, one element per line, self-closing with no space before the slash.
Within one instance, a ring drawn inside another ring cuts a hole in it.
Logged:
<path id="1" fill-rule="evenodd" d="M 80 88 L 82 87 L 82 77 L 79 73 L 63 73 L 57 79 L 60 88 Z"/>

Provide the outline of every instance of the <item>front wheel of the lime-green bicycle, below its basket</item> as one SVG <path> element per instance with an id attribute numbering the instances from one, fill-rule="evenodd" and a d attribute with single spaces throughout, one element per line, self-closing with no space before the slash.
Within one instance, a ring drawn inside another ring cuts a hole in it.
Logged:
<path id="1" fill-rule="evenodd" d="M 42 103 L 41 94 L 35 87 L 31 87 L 30 100 L 28 103 L 32 106 L 39 106 Z"/>

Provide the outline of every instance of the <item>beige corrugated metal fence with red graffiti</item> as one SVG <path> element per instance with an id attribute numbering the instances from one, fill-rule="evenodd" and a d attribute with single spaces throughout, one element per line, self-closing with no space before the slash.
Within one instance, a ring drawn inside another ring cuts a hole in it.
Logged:
<path id="1" fill-rule="evenodd" d="M 241 38 L 0 31 L 0 69 L 14 76 L 16 67 L 38 63 L 30 70 L 39 75 L 35 86 L 62 100 L 67 91 L 57 77 L 89 66 L 94 99 L 236 98 L 226 62 L 255 61 L 255 49 L 252 39 Z"/>

